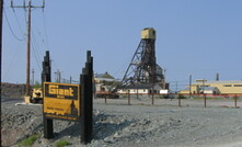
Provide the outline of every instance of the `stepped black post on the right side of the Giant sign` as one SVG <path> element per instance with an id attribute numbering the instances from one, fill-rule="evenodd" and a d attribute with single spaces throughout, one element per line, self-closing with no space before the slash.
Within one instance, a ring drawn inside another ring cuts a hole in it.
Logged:
<path id="1" fill-rule="evenodd" d="M 93 112 L 93 57 L 91 57 L 91 52 L 88 50 L 88 61 L 85 63 L 85 68 L 82 69 L 82 75 L 80 77 L 81 81 L 81 143 L 88 144 L 92 140 L 92 112 Z"/>

